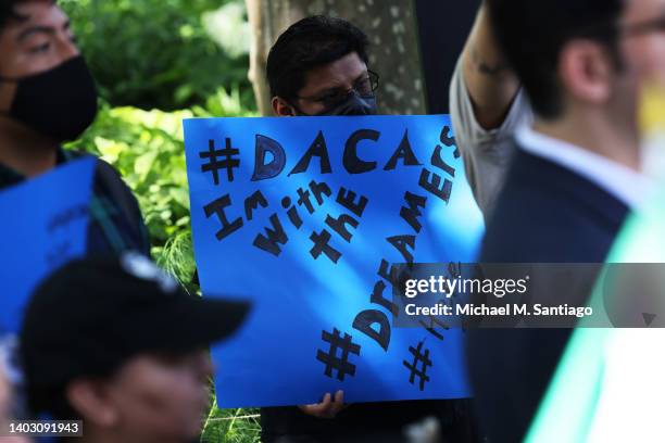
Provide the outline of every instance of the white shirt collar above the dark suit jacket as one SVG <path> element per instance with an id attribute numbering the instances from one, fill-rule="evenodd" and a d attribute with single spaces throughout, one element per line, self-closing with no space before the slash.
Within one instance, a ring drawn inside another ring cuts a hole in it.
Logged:
<path id="1" fill-rule="evenodd" d="M 517 144 L 531 155 L 549 160 L 598 185 L 635 210 L 653 190 L 645 176 L 587 149 L 522 126 L 515 134 Z"/>

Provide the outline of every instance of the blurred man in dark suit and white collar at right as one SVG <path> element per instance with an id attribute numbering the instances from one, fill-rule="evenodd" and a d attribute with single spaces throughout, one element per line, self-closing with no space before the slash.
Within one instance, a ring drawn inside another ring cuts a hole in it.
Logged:
<path id="1" fill-rule="evenodd" d="M 535 123 L 516 132 L 480 262 L 603 263 L 652 188 L 642 174 L 638 98 L 665 76 L 665 1 L 487 4 Z M 490 441 L 525 436 L 570 332 L 469 331 L 470 378 Z"/>

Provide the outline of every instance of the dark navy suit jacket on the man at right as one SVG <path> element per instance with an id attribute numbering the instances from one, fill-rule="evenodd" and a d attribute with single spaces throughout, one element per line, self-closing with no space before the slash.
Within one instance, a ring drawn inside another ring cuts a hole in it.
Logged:
<path id="1" fill-rule="evenodd" d="M 480 262 L 602 263 L 627 213 L 623 202 L 595 183 L 517 149 L 487 226 Z M 490 442 L 525 436 L 570 332 L 469 331 L 475 405 Z"/>

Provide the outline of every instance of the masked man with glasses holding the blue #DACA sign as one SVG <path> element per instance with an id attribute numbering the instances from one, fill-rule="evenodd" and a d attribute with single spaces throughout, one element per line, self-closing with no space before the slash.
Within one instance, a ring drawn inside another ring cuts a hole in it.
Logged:
<path id="1" fill-rule="evenodd" d="M 277 116 L 377 114 L 378 75 L 367 67 L 367 36 L 340 18 L 311 16 L 279 36 L 267 60 Z M 343 405 L 343 392 L 322 393 L 322 403 L 261 409 L 264 442 L 393 442 L 404 428 L 436 417 L 442 434 L 474 441 L 466 404 L 459 401 Z"/>

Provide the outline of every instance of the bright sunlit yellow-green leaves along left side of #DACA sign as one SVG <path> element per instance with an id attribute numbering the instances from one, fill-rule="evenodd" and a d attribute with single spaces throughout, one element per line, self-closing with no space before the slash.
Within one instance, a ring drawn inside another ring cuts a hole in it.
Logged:
<path id="1" fill-rule="evenodd" d="M 153 245 L 153 257 L 189 286 L 195 262 L 183 119 L 193 116 L 255 115 L 243 107 L 238 90 L 219 89 L 205 107 L 143 111 L 104 107 L 95 125 L 70 147 L 111 163 L 138 198 Z"/>

